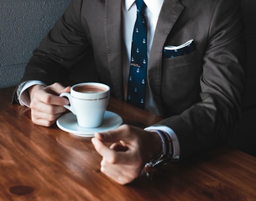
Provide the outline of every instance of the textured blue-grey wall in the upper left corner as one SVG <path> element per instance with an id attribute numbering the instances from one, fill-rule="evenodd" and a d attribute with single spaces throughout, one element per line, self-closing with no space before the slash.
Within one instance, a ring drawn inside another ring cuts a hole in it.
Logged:
<path id="1" fill-rule="evenodd" d="M 17 85 L 32 51 L 70 0 L 0 0 L 0 88 Z"/>

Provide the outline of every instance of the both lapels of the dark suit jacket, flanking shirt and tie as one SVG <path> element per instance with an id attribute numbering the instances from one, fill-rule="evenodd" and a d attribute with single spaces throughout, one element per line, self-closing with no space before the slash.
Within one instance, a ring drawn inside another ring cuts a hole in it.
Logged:
<path id="1" fill-rule="evenodd" d="M 181 15 L 184 6 L 179 0 L 165 0 L 159 14 L 151 48 L 148 81 L 153 101 L 161 106 L 161 64 L 163 46 L 175 22 Z M 105 0 L 105 42 L 107 46 L 107 65 L 110 77 L 107 78 L 112 95 L 122 99 L 122 1 Z M 157 112 L 162 114 L 161 107 Z"/>

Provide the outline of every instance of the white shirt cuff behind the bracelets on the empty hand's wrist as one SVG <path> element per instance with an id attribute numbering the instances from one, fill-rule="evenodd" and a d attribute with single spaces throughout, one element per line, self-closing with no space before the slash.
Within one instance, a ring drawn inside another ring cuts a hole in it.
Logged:
<path id="1" fill-rule="evenodd" d="M 180 155 L 179 140 L 177 138 L 177 135 L 171 128 L 169 128 L 167 126 L 155 125 L 155 126 L 149 126 L 149 127 L 145 128 L 144 130 L 147 130 L 147 131 L 161 130 L 161 131 L 169 134 L 169 136 L 171 137 L 171 140 L 173 142 L 173 157 L 172 157 L 172 159 L 179 159 L 179 155 Z"/>

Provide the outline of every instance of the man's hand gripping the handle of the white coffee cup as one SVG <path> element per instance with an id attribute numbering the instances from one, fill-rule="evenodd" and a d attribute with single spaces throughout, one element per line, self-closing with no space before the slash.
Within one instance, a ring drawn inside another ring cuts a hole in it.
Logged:
<path id="1" fill-rule="evenodd" d="M 34 85 L 27 90 L 30 95 L 31 118 L 34 124 L 52 126 L 65 112 L 64 105 L 69 104 L 67 99 L 59 95 L 70 92 L 70 87 L 63 87 L 60 83 L 47 87 Z"/>

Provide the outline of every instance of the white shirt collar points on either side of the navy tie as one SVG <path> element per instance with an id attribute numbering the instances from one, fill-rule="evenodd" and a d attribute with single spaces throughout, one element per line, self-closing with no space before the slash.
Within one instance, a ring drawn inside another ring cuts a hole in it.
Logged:
<path id="1" fill-rule="evenodd" d="M 145 4 L 147 5 L 149 11 L 153 13 L 153 15 L 159 16 L 161 7 L 163 5 L 164 0 L 144 0 Z M 130 7 L 135 3 L 135 0 L 125 0 L 125 7 L 128 11 Z"/>

